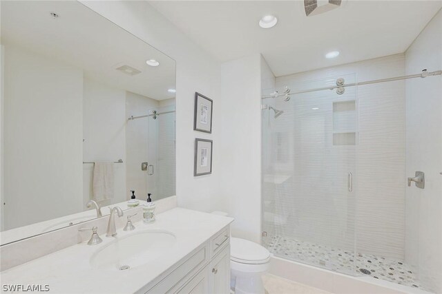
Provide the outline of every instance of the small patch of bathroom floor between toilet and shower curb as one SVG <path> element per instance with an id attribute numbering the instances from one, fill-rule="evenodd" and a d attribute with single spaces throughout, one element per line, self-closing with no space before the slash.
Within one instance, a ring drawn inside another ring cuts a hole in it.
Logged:
<path id="1" fill-rule="evenodd" d="M 285 280 L 276 275 L 263 275 L 262 282 L 264 282 L 266 294 L 329 294 L 327 291 Z"/>

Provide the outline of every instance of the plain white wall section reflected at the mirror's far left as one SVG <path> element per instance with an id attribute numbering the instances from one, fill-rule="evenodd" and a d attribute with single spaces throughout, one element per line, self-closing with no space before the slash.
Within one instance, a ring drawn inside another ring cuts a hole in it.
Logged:
<path id="1" fill-rule="evenodd" d="M 80 211 L 82 71 L 10 45 L 4 70 L 5 229 Z"/>

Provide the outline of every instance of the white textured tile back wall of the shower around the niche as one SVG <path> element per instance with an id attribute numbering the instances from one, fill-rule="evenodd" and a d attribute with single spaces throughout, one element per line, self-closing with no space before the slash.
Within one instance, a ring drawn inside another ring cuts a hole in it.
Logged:
<path id="1" fill-rule="evenodd" d="M 276 89 L 282 92 L 288 85 L 295 92 L 332 85 L 338 77 L 351 83 L 402 76 L 404 62 L 404 54 L 396 54 L 282 76 L 276 78 Z M 354 99 L 356 117 L 347 125 L 349 132 L 356 130 L 356 145 L 336 146 L 333 102 Z M 349 87 L 343 95 L 325 90 L 296 95 L 287 102 L 278 98 L 263 103 L 285 112 L 278 118 L 272 112 L 262 114 L 264 228 L 349 250 L 356 240 L 358 252 L 403 259 L 404 82 Z M 352 192 L 347 191 L 349 171 L 354 175 Z"/>

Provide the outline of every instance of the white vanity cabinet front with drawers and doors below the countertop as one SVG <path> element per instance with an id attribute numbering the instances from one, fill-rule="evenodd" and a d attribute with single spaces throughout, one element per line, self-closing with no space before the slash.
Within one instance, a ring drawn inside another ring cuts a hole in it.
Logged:
<path id="1" fill-rule="evenodd" d="M 229 294 L 229 227 L 213 235 L 146 288 L 147 291 L 137 293 Z"/>

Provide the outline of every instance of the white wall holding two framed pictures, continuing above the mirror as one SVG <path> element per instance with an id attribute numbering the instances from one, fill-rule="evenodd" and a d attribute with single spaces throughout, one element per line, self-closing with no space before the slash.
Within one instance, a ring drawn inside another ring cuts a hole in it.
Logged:
<path id="1" fill-rule="evenodd" d="M 224 165 L 220 144 L 221 119 L 220 63 L 191 42 L 182 32 L 145 1 L 81 1 L 95 12 L 146 41 L 175 59 L 177 125 L 177 201 L 180 207 L 200 211 L 226 209 L 221 180 Z M 193 131 L 195 92 L 213 99 L 213 134 Z M 213 140 L 213 171 L 209 176 L 193 177 L 195 137 Z M 259 157 L 258 157 L 259 158 Z"/>

